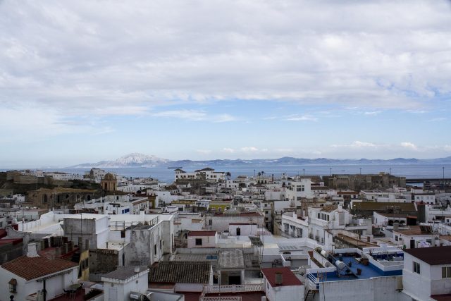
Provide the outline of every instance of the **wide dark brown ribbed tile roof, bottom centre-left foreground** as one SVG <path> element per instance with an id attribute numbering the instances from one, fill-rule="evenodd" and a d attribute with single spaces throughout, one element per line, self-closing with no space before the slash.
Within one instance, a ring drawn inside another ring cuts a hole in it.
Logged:
<path id="1" fill-rule="evenodd" d="M 209 283 L 209 262 L 159 262 L 150 267 L 149 283 Z"/>

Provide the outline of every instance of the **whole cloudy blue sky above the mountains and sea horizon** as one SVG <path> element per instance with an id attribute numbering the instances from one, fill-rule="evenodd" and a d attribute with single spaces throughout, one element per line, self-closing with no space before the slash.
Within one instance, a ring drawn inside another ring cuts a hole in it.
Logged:
<path id="1" fill-rule="evenodd" d="M 451 156 L 450 1 L 0 0 L 0 168 Z"/>

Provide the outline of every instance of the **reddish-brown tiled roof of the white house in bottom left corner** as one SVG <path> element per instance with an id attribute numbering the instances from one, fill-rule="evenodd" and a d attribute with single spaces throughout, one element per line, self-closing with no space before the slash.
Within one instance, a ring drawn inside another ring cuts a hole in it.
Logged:
<path id="1" fill-rule="evenodd" d="M 78 266 L 78 264 L 63 259 L 22 256 L 11 260 L 11 262 L 6 262 L 1 267 L 28 281 L 64 271 L 74 266 Z"/>

